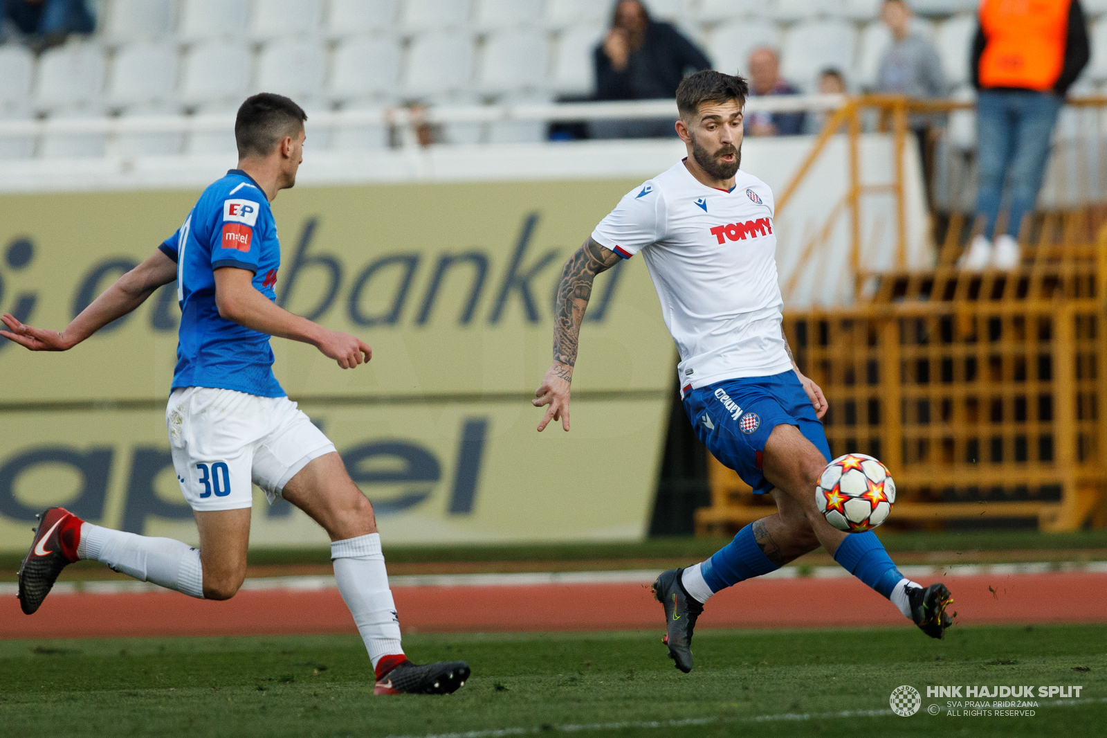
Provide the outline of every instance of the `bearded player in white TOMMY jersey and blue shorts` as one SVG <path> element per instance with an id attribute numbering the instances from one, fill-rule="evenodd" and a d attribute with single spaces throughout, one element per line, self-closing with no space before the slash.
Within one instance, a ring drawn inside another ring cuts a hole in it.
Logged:
<path id="1" fill-rule="evenodd" d="M 711 558 L 670 570 L 653 584 L 665 612 L 669 656 L 692 669 L 692 632 L 720 590 L 767 574 L 821 545 L 851 574 L 891 599 L 930 636 L 950 625 L 950 593 L 899 573 L 870 531 L 846 534 L 815 504 L 830 460 L 823 390 L 792 358 L 780 328 L 773 193 L 741 172 L 745 80 L 697 72 L 676 90 L 676 132 L 687 157 L 629 192 L 569 259 L 557 291 L 554 363 L 535 392 L 548 406 L 538 426 L 569 430 L 569 389 L 592 279 L 639 252 L 676 341 L 681 397 L 711 453 L 776 514 L 742 529 Z"/>

